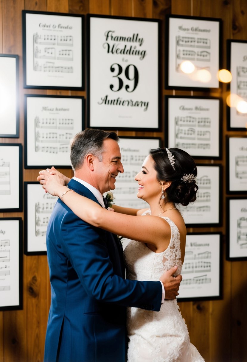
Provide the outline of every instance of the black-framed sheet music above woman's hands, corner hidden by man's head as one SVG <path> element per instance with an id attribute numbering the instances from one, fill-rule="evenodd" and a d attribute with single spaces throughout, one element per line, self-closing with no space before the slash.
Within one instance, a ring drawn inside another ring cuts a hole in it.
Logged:
<path id="1" fill-rule="evenodd" d="M 70 140 L 84 129 L 84 98 L 25 94 L 25 168 L 70 168 Z"/>

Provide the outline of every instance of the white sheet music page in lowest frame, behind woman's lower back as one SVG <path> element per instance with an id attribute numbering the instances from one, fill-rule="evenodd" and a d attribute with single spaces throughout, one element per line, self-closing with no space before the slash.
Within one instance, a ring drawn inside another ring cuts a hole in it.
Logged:
<path id="1" fill-rule="evenodd" d="M 218 235 L 213 235 L 218 237 Z M 219 251 L 214 247 L 209 235 L 187 235 L 184 264 L 181 271 L 183 280 L 179 288 L 179 297 L 214 295 L 217 292 Z M 215 264 L 216 261 L 216 264 Z"/>

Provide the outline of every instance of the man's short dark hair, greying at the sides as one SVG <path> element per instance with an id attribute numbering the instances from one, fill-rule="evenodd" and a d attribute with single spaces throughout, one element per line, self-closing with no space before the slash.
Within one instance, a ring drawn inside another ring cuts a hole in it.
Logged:
<path id="1" fill-rule="evenodd" d="M 88 153 L 92 153 L 101 162 L 102 152 L 104 151 L 103 142 L 106 138 L 119 142 L 118 135 L 115 132 L 88 128 L 76 134 L 70 145 L 70 161 L 73 171 L 81 168 Z"/>

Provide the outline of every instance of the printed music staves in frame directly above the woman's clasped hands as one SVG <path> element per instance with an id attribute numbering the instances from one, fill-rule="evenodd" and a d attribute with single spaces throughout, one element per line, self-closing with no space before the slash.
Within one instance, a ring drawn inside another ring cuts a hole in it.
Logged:
<path id="1" fill-rule="evenodd" d="M 70 140 L 74 135 L 74 119 L 48 115 L 47 118 L 36 116 L 35 152 L 68 153 Z"/>

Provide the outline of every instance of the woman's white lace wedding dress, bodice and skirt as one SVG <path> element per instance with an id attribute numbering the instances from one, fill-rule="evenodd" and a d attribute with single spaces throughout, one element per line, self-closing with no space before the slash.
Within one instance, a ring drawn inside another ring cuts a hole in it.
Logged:
<path id="1" fill-rule="evenodd" d="M 150 210 L 143 215 L 150 214 Z M 162 253 L 151 251 L 145 243 L 130 241 L 124 251 L 126 278 L 158 281 L 165 270 L 177 265 L 181 273 L 180 234 L 169 218 L 171 240 Z M 139 308 L 127 310 L 127 332 L 130 339 L 128 362 L 203 362 L 195 346 L 190 343 L 188 329 L 175 300 L 165 300 L 160 311 Z"/>

